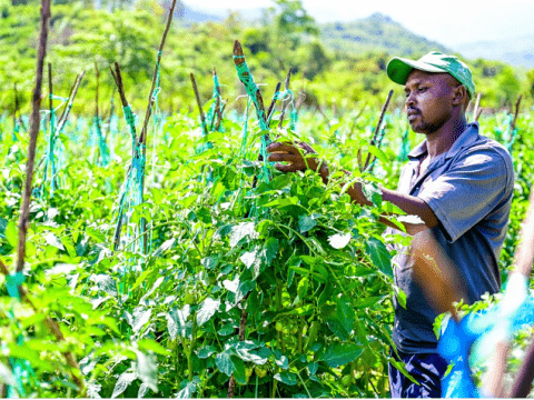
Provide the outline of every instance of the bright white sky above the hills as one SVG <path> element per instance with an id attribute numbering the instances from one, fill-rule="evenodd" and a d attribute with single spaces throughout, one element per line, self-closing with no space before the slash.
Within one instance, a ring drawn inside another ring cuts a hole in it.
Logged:
<path id="1" fill-rule="evenodd" d="M 250 9 L 270 7 L 270 0 L 184 0 L 194 9 Z M 221 7 L 221 3 L 224 7 Z M 380 12 L 414 33 L 454 48 L 534 34 L 534 0 L 303 0 L 317 22 L 350 21 Z M 534 47 L 534 43 L 533 43 Z"/>

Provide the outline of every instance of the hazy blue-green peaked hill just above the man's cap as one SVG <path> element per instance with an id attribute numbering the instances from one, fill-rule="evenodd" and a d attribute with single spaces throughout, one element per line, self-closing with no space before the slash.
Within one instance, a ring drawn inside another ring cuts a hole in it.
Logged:
<path id="1" fill-rule="evenodd" d="M 385 50 L 390 54 L 418 57 L 429 51 L 453 52 L 443 44 L 408 31 L 382 13 L 352 22 L 323 23 L 319 27 L 327 48 L 347 53 Z"/>

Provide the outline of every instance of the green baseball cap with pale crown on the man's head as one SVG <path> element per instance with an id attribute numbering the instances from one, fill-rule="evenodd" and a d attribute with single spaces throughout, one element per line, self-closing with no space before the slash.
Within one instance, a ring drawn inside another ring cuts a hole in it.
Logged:
<path id="1" fill-rule="evenodd" d="M 448 72 L 465 86 L 471 98 L 475 94 L 475 82 L 469 67 L 458 60 L 457 57 L 443 54 L 438 51 L 432 51 L 417 61 L 394 57 L 387 63 L 386 72 L 395 83 L 406 84 L 408 74 L 414 68 L 426 72 Z"/>

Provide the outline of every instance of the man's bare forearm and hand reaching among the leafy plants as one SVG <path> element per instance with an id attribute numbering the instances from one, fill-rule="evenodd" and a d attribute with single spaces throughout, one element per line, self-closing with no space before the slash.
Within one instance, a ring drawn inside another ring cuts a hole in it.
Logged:
<path id="1" fill-rule="evenodd" d="M 299 148 L 289 143 L 271 143 L 267 147 L 267 152 L 269 153 L 268 160 L 287 162 L 287 164 L 275 164 L 275 168 L 283 172 L 304 171 L 309 168 L 318 172 L 323 179 L 323 182 L 326 184 L 329 177 L 326 162 L 319 161 L 315 157 L 305 158 L 305 154 L 315 153 L 315 151 L 308 144 L 298 143 L 298 147 Z M 348 172 L 346 173 L 349 174 Z M 434 211 L 432 211 L 428 204 L 419 198 L 415 196 L 403 194 L 385 188 L 380 188 L 380 190 L 384 200 L 397 206 L 400 210 L 409 216 L 418 217 L 423 221 L 422 223 L 403 222 L 408 234 L 414 236 L 438 224 L 438 220 L 434 214 Z M 347 194 L 350 196 L 350 199 L 357 204 L 373 206 L 373 202 L 365 197 L 362 190 L 362 183 L 353 184 L 349 189 L 347 189 Z M 398 227 L 390 222 L 387 218 L 380 217 L 380 222 L 388 227 L 398 229 Z"/>

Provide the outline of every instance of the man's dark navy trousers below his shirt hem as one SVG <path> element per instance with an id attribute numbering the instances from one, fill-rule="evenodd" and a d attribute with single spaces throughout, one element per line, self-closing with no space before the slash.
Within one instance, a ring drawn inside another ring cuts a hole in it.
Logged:
<path id="1" fill-rule="evenodd" d="M 415 384 L 389 363 L 389 389 L 392 399 L 436 399 L 442 397 L 442 378 L 447 370 L 447 361 L 438 353 L 407 354 L 393 350 L 389 354 L 406 364 L 406 370 L 419 384 Z"/>

